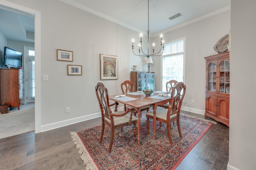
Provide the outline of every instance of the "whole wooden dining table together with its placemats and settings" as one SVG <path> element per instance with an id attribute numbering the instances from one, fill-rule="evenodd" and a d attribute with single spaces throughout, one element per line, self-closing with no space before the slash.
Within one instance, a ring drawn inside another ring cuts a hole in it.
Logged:
<path id="1" fill-rule="evenodd" d="M 138 144 L 140 145 L 140 118 L 142 107 L 152 106 L 154 110 L 153 116 L 153 139 L 156 139 L 156 108 L 158 105 L 164 105 L 168 103 L 171 99 L 171 94 L 163 91 L 154 91 L 150 96 L 145 95 L 142 91 L 110 95 L 109 99 L 115 101 L 116 103 L 122 103 L 124 105 L 129 105 L 137 109 L 138 117 Z"/>

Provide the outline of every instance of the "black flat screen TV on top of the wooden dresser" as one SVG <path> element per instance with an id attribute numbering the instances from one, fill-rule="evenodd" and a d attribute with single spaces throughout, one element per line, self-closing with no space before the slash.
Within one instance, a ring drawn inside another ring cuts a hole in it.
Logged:
<path id="1" fill-rule="evenodd" d="M 4 47 L 4 65 L 10 68 L 22 68 L 22 53 L 9 47 Z"/>

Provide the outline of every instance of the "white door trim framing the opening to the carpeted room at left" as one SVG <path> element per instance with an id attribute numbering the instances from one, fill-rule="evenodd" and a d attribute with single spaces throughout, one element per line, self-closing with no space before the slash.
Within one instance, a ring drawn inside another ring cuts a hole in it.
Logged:
<path id="1" fill-rule="evenodd" d="M 41 132 L 41 12 L 0 0 L 0 5 L 3 7 L 12 8 L 31 14 L 35 18 L 35 133 Z"/>

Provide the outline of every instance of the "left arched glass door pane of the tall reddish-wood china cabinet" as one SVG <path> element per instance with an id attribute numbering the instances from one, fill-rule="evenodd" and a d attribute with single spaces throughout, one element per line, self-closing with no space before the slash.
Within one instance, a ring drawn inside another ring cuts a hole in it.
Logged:
<path id="1" fill-rule="evenodd" d="M 208 91 L 216 91 L 216 63 L 208 66 Z"/>

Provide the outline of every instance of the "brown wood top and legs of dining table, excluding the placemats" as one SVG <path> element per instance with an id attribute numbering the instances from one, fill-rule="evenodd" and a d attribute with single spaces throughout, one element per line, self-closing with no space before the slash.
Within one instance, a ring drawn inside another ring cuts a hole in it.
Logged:
<path id="1" fill-rule="evenodd" d="M 166 97 L 166 99 L 163 99 L 163 100 L 158 100 L 158 99 L 150 98 L 150 96 L 146 96 L 145 94 L 142 94 L 142 95 L 130 95 L 130 94 L 126 93 L 125 95 L 128 96 L 128 97 L 136 98 L 137 100 L 124 102 L 124 101 L 120 101 L 120 100 L 114 99 L 114 97 L 117 96 L 117 95 L 111 95 L 111 96 L 109 96 L 109 99 L 113 100 L 115 102 L 118 102 L 118 103 L 122 103 L 124 105 L 132 106 L 132 107 L 137 109 L 137 116 L 138 116 L 138 144 L 140 144 L 140 118 L 141 118 L 141 110 L 142 110 L 142 108 L 146 107 L 146 106 L 151 106 L 152 105 L 153 110 L 154 110 L 153 111 L 153 113 L 154 113 L 153 119 L 156 119 L 156 107 L 158 105 L 164 105 L 164 104 L 168 103 L 170 101 L 170 97 L 169 98 Z M 158 95 L 158 93 L 152 93 L 151 96 L 153 96 L 153 95 Z M 170 94 L 168 94 L 168 95 L 170 96 Z M 153 139 L 156 138 L 156 123 L 155 122 L 156 121 L 153 121 L 153 127 L 154 127 Z"/>

